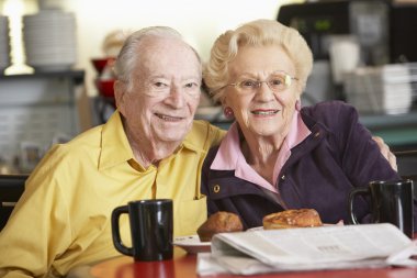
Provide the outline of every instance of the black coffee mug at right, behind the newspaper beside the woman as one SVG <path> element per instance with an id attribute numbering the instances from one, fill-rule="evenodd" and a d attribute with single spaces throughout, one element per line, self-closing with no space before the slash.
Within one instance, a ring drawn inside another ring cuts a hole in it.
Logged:
<path id="1" fill-rule="evenodd" d="M 359 224 L 353 211 L 357 194 L 371 197 L 373 223 L 392 223 L 413 238 L 413 180 L 377 180 L 371 181 L 369 187 L 353 189 L 348 202 L 353 224 Z"/>

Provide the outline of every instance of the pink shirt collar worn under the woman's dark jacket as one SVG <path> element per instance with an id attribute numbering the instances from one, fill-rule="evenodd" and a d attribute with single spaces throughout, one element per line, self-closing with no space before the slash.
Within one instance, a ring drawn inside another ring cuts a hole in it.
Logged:
<path id="1" fill-rule="evenodd" d="M 282 166 L 291 155 L 291 148 L 298 145 L 312 132 L 304 124 L 298 111 L 295 111 L 290 132 L 282 143 L 281 149 L 278 154 L 275 166 L 273 168 L 273 180 L 278 180 Z M 252 167 L 250 167 L 240 149 L 239 134 L 237 123 L 233 123 L 225 138 L 222 141 L 216 157 L 214 158 L 211 169 L 214 170 L 235 170 L 237 178 L 250 181 L 264 189 L 278 193 L 274 185 L 271 185 L 263 177 L 261 177 Z"/>

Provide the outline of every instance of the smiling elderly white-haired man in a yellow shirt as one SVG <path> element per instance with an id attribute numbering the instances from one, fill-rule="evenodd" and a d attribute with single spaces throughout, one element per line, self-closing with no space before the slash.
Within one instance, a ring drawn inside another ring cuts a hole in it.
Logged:
<path id="1" fill-rule="evenodd" d="M 112 210 L 135 199 L 173 199 L 174 235 L 194 234 L 206 219 L 200 173 L 223 131 L 193 121 L 202 65 L 169 27 L 125 42 L 115 70 L 116 111 L 64 145 L 32 173 L 0 234 L 0 277 L 59 277 L 109 258 Z M 128 241 L 128 222 L 121 222 Z"/>

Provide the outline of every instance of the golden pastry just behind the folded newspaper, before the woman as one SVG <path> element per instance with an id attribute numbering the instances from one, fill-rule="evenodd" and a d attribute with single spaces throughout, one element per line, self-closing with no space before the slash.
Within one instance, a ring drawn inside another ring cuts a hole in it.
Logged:
<path id="1" fill-rule="evenodd" d="M 262 219 L 264 230 L 322 226 L 318 212 L 314 209 L 285 210 L 266 215 Z"/>

